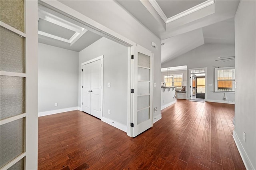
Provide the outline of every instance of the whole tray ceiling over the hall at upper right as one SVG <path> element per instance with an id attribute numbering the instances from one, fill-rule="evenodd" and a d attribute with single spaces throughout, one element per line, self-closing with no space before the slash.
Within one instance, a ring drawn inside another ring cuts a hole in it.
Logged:
<path id="1" fill-rule="evenodd" d="M 165 43 L 162 63 L 205 43 L 234 44 L 234 15 L 239 0 L 116 2 Z"/>

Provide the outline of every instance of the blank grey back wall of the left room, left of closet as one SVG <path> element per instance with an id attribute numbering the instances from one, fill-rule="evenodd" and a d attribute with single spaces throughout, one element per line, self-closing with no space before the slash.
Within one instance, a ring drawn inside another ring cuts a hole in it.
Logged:
<path id="1" fill-rule="evenodd" d="M 78 52 L 38 43 L 38 112 L 78 107 L 77 84 Z"/>

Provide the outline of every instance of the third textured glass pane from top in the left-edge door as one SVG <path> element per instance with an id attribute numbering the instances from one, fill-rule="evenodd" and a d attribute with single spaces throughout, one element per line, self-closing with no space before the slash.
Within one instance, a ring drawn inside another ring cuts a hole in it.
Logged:
<path id="1" fill-rule="evenodd" d="M 0 76 L 0 119 L 24 113 L 24 77 Z"/>

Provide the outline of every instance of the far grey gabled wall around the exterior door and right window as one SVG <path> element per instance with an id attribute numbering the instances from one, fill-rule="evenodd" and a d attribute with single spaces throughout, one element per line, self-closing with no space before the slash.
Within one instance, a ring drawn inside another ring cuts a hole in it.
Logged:
<path id="1" fill-rule="evenodd" d="M 235 55 L 235 47 L 234 45 L 225 45 L 225 44 L 204 44 L 200 47 L 197 47 L 179 57 L 176 57 L 166 63 L 162 63 L 162 68 L 165 67 L 174 67 L 180 65 L 187 65 L 188 69 L 207 67 L 207 94 L 206 100 L 213 102 L 224 102 L 223 93 L 214 93 L 214 68 L 216 67 L 231 67 L 235 65 L 235 61 L 215 61 L 218 57 L 225 56 L 234 56 Z M 187 72 L 188 73 L 188 72 Z M 187 87 L 189 85 L 190 76 L 188 73 L 187 77 Z M 208 86 L 208 84 L 212 84 L 212 86 Z M 187 97 L 188 97 L 187 93 Z M 234 103 L 235 95 L 234 93 L 226 93 L 228 97 L 227 103 Z"/>

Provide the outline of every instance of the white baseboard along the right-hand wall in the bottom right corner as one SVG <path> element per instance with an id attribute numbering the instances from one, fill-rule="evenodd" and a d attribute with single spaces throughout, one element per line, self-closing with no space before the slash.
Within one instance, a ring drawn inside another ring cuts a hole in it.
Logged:
<path id="1" fill-rule="evenodd" d="M 247 170 L 255 170 L 255 168 L 253 167 L 252 165 L 252 162 L 250 161 L 248 155 L 246 154 L 245 150 L 244 150 L 244 147 L 242 145 L 242 143 L 240 142 L 235 130 L 233 131 L 233 138 L 235 140 L 235 143 L 236 143 L 236 146 L 238 148 L 238 151 L 241 155 L 241 158 L 244 162 L 244 166 Z"/>

